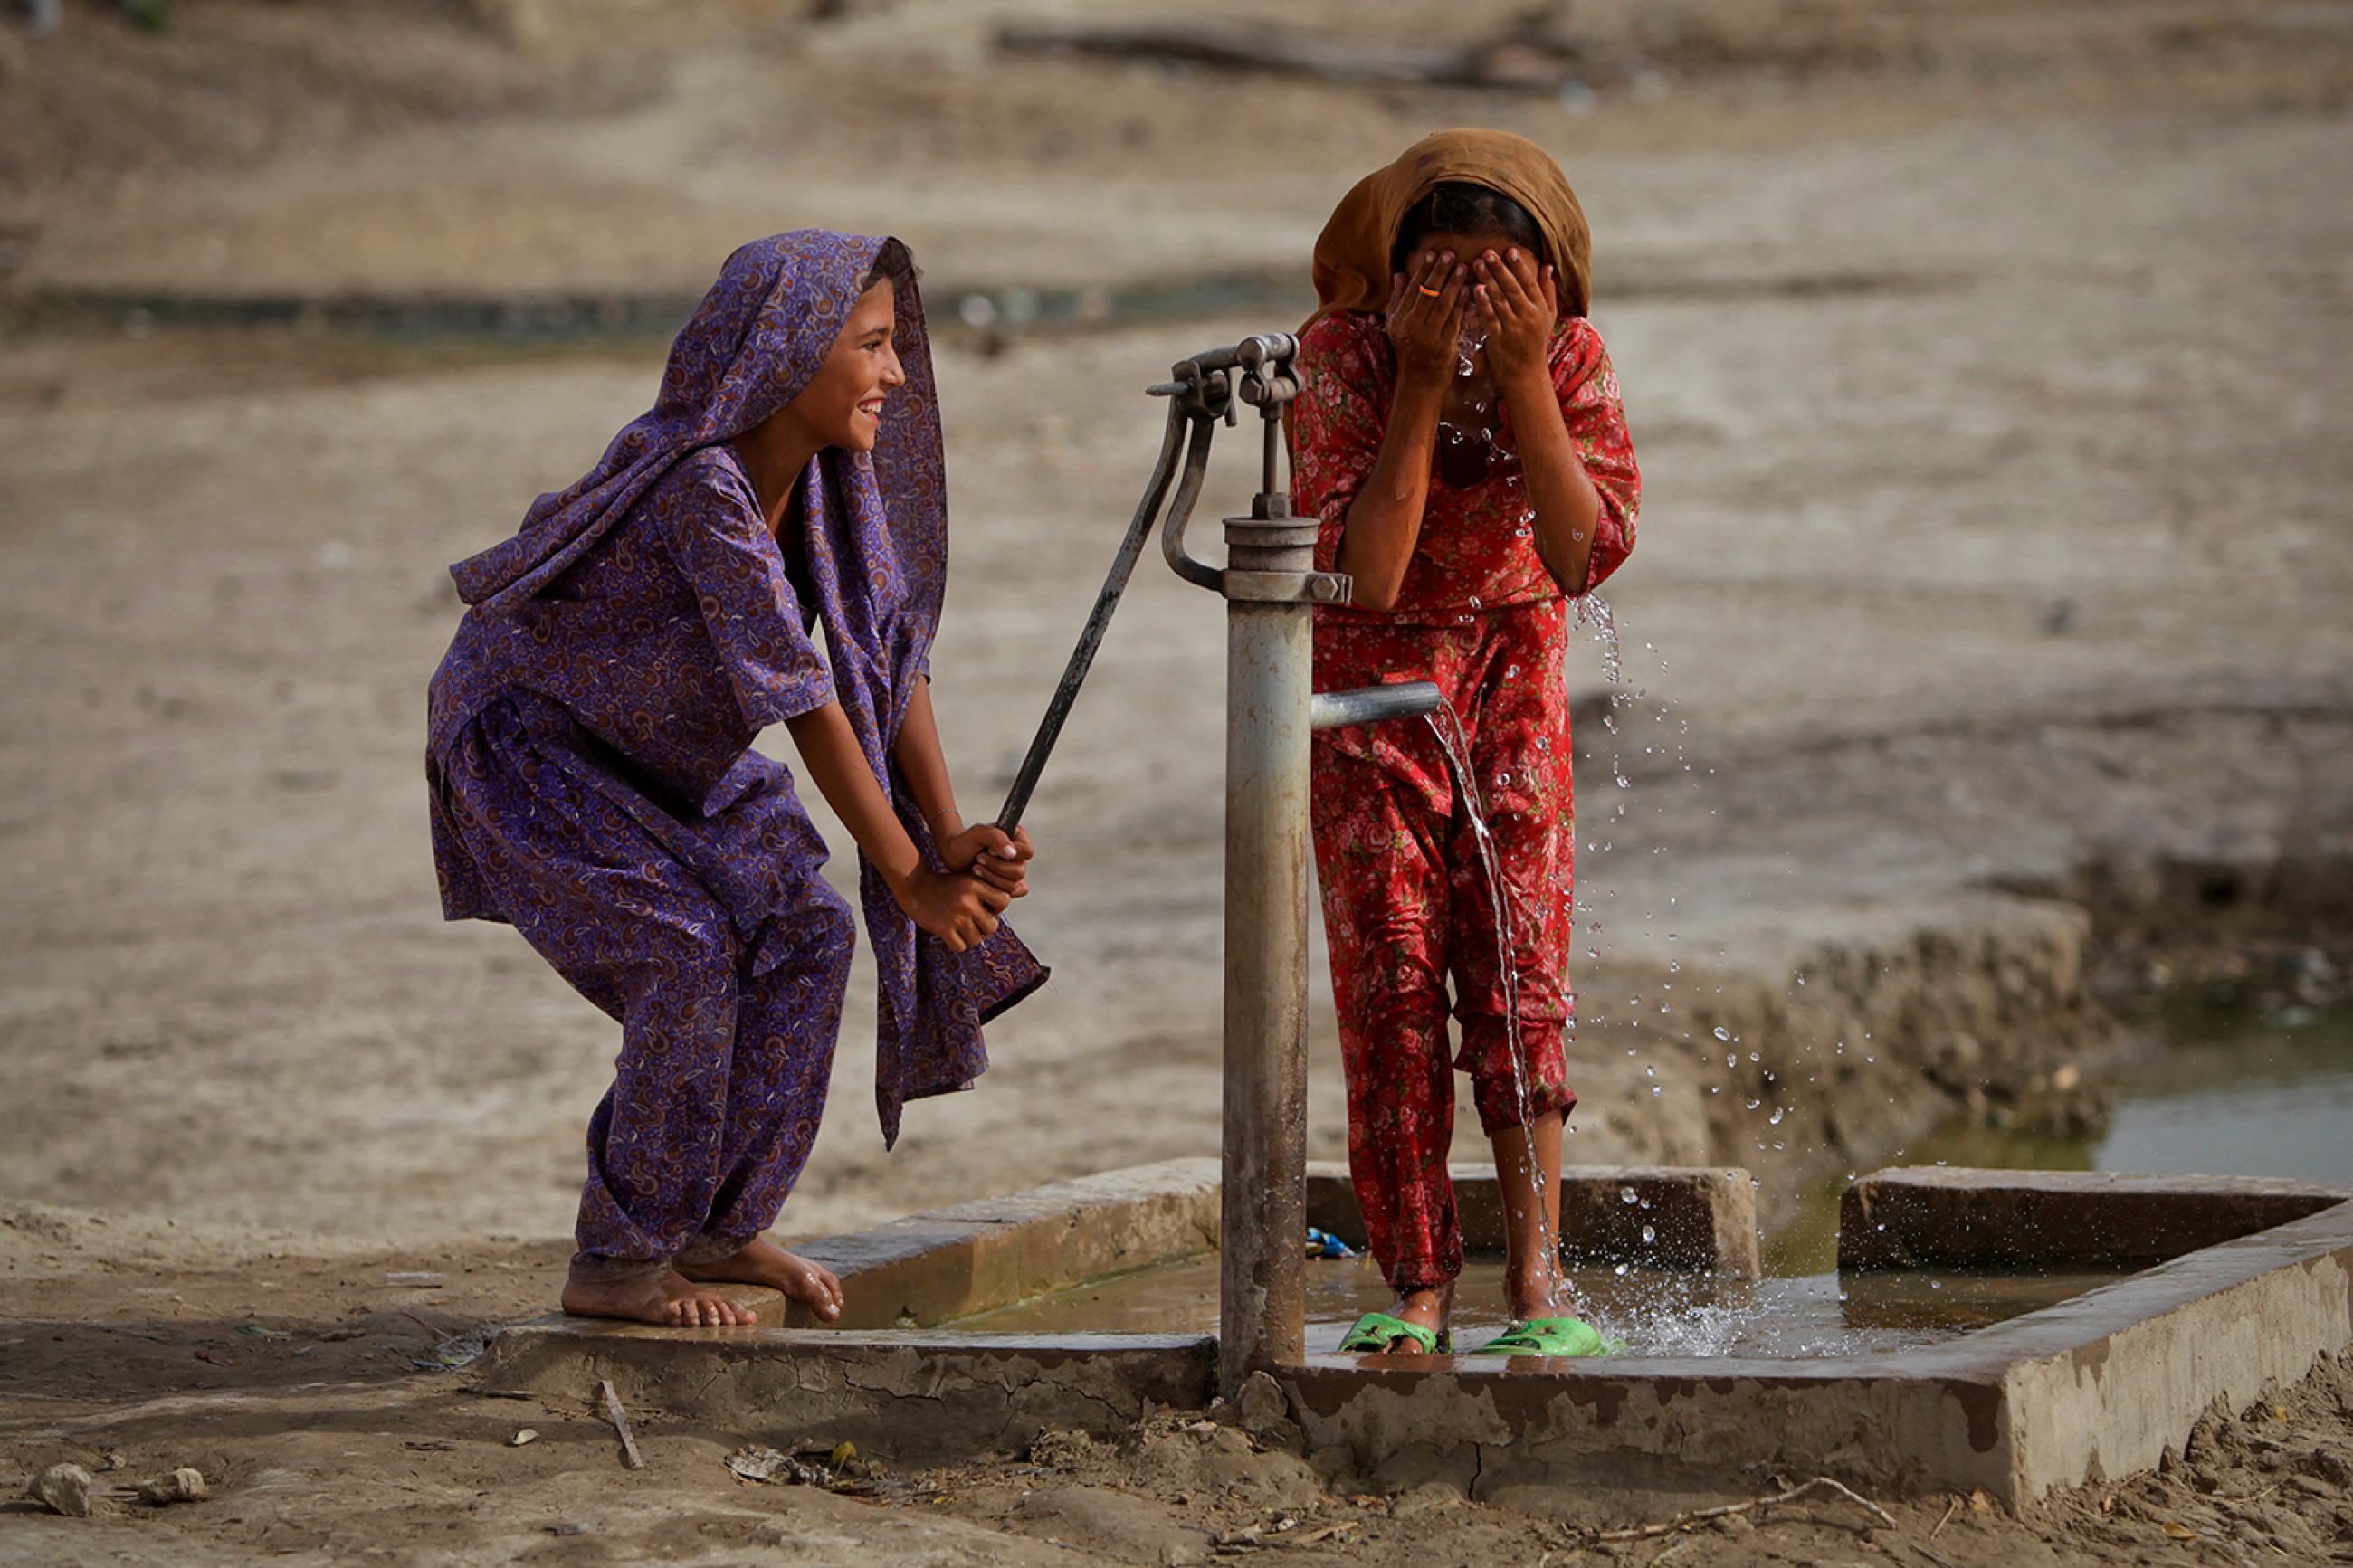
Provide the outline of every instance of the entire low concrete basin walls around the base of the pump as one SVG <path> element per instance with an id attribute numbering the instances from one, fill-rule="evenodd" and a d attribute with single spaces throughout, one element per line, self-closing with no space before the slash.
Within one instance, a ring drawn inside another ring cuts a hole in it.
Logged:
<path id="1" fill-rule="evenodd" d="M 1461 1173 L 1471 1229 L 1492 1206 L 1482 1175 Z M 1633 1213 L 1635 1241 L 1642 1222 L 1657 1234 L 1647 1262 L 1753 1276 L 1748 1192 L 1737 1171 L 1579 1171 L 1562 1194 L 1565 1244 L 1586 1255 L 1619 1246 L 1619 1213 Z M 1346 1229 L 1344 1194 L 1346 1180 L 1318 1168 L 1311 1218 Z M 2348 1199 L 2233 1178 L 1885 1171 L 1845 1201 L 1840 1258 L 1854 1269 L 2153 1267 L 1925 1349 L 1311 1356 L 1275 1380 L 1320 1467 L 1372 1486 L 1445 1476 L 1478 1497 L 1591 1512 L 1612 1497 L 1659 1507 L 1746 1493 L 1772 1474 L 1833 1474 L 1878 1495 L 1984 1488 L 2024 1507 L 2054 1486 L 2148 1469 L 2217 1399 L 2247 1403 L 2353 1347 Z M 1059 1182 L 805 1248 L 842 1274 L 849 1328 L 558 1314 L 499 1335 L 485 1385 L 576 1394 L 612 1378 L 638 1408 L 774 1443 L 847 1436 L 906 1462 L 1009 1450 L 1042 1429 L 1113 1432 L 1151 1406 L 1205 1406 L 1214 1342 L 936 1324 L 1198 1255 L 1214 1239 L 1212 1161 Z M 2167 1251 L 2177 1255 L 2160 1260 Z"/>

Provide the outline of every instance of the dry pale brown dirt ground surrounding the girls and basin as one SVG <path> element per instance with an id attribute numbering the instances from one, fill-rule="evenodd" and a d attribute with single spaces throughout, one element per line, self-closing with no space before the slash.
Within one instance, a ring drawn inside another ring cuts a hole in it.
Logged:
<path id="1" fill-rule="evenodd" d="M 1965 1084 L 2097 1060 L 2085 971 L 2120 931 L 2195 950 L 2184 875 L 2254 905 L 2233 947 L 2353 929 L 2353 14 L 1593 5 L 1595 96 L 1532 99 L 1000 59 L 1019 9 L 191 0 L 153 40 L 99 7 L 5 33 L 0 1469 L 120 1450 L 224 1486 L 7 1514 L 0 1556 L 1160 1561 L 1287 1509 L 1299 1540 L 1353 1521 L 1313 1542 L 1353 1561 L 1577 1561 L 1560 1526 L 1327 1495 L 1235 1434 L 1066 1446 L 878 1512 L 736 1486 L 744 1434 L 656 1427 L 621 1476 L 584 1410 L 419 1373 L 553 1293 L 614 1048 L 518 938 L 435 919 L 442 567 L 642 409 L 659 343 L 92 331 L 42 301 L 666 296 L 791 223 L 904 233 L 941 301 L 1280 284 L 1355 174 L 1506 125 L 1586 197 L 1647 473 L 1609 590 L 1628 703 L 1581 733 L 1572 1159 L 1751 1164 L 1777 1211 Z M 1428 35 L 1508 9 L 1297 14 Z M 1301 313 L 948 346 L 967 804 L 1134 501 L 1139 388 Z M 1240 498 L 1228 463 L 1205 517 Z M 892 1157 L 859 1001 L 788 1232 L 1214 1147 L 1217 618 L 1144 567 L 1031 818 L 1054 987 Z M 1572 682 L 1605 686 L 1598 644 Z M 1329 1157 L 1327 1009 L 1315 1053 Z M 388 1279 L 416 1272 L 440 1279 Z M 1678 1556 L 2240 1561 L 2278 1533 L 2318 1559 L 2353 1523 L 2344 1399 L 2341 1368 L 2282 1392 L 2113 1512 L 1962 1507 L 1932 1535 L 1939 1502 L 1861 1537 L 1852 1505 L 1805 1505 Z M 544 1441 L 496 1446 L 520 1425 Z M 567 1521 L 593 1533 L 546 1533 Z"/>

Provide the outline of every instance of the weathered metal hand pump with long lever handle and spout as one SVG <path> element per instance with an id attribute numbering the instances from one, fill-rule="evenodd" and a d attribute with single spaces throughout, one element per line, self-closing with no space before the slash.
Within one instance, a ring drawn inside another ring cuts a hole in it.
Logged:
<path id="1" fill-rule="evenodd" d="M 1179 360 L 1169 381 L 1151 388 L 1169 400 L 1160 461 L 998 813 L 1007 830 L 1021 820 L 1165 503 L 1167 564 L 1226 599 L 1219 1382 L 1228 1392 L 1306 1354 L 1308 733 L 1426 715 L 1442 701 L 1428 682 L 1313 693 L 1315 607 L 1346 604 L 1348 578 L 1315 571 L 1318 520 L 1294 517 L 1280 484 L 1297 355 L 1297 339 L 1259 334 Z M 1184 536 L 1217 425 L 1238 423 L 1242 404 L 1259 411 L 1261 482 L 1249 512 L 1226 517 L 1226 564 L 1212 567 L 1186 552 Z"/>

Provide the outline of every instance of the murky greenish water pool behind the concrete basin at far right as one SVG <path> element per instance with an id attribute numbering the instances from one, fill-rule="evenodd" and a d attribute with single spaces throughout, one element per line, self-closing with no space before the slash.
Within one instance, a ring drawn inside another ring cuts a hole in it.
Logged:
<path id="1" fill-rule="evenodd" d="M 2257 1009 L 2172 992 L 2125 1009 L 2160 1056 L 2108 1077 L 2108 1128 L 2087 1138 L 1953 1121 L 1880 1166 L 2278 1175 L 2353 1185 L 2353 1006 Z M 1838 1260 L 1845 1180 L 1807 1194 L 1765 1241 L 1767 1274 Z"/>

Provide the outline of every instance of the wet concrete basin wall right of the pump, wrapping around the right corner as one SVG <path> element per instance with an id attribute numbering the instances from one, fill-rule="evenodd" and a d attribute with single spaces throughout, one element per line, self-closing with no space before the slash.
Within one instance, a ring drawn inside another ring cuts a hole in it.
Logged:
<path id="1" fill-rule="evenodd" d="M 2021 1267 L 2035 1244 L 2071 1262 L 2137 1258 L 2146 1244 L 2120 1227 L 2151 1220 L 2205 1244 L 1927 1349 L 1506 1366 L 1318 1356 L 1278 1380 L 1308 1443 L 1344 1450 L 1360 1474 L 1447 1476 L 1522 1507 L 1612 1495 L 1657 1507 L 1769 1474 L 1833 1474 L 1878 1495 L 1984 1488 L 2024 1507 L 2153 1469 L 2209 1403 L 2245 1406 L 2353 1347 L 2348 1199 L 2233 1178 L 1885 1171 L 1845 1208 L 1871 1227 L 1854 1248 L 1880 1265 L 1901 1253 Z"/>

